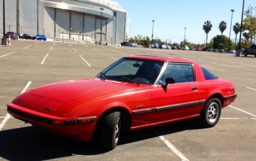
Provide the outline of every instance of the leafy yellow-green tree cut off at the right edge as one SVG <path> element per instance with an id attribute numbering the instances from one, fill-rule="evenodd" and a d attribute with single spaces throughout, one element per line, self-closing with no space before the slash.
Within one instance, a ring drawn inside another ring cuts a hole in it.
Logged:
<path id="1" fill-rule="evenodd" d="M 243 23 L 243 36 L 245 39 L 250 39 L 250 44 L 252 44 L 252 38 L 256 34 L 256 7 L 249 6 L 245 11 L 246 18 Z"/>

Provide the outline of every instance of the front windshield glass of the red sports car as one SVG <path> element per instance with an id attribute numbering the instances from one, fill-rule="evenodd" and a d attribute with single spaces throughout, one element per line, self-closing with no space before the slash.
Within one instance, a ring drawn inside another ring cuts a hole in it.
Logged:
<path id="1" fill-rule="evenodd" d="M 153 84 L 163 64 L 161 61 L 122 58 L 97 77 L 136 84 Z"/>

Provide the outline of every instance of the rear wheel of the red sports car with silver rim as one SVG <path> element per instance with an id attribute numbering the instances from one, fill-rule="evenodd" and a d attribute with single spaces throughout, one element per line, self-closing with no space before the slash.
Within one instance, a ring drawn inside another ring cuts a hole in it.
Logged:
<path id="1" fill-rule="evenodd" d="M 201 111 L 200 121 L 206 128 L 215 126 L 221 116 L 222 105 L 219 98 L 211 98 L 208 100 Z"/>

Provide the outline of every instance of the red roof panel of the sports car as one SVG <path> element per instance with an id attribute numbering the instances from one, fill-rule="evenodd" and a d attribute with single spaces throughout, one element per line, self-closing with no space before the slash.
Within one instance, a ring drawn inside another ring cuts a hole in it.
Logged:
<path id="1" fill-rule="evenodd" d="M 151 55 L 129 55 L 127 58 L 138 58 L 138 59 L 148 59 L 152 61 L 162 61 L 162 62 L 176 62 L 176 63 L 195 63 L 184 58 L 172 58 L 172 57 L 162 57 L 162 56 L 151 56 Z"/>

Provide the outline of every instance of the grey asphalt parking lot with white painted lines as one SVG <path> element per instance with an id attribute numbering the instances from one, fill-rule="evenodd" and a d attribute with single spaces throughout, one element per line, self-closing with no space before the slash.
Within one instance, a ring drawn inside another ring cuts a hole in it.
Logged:
<path id="1" fill-rule="evenodd" d="M 43 41 L 0 46 L 0 160 L 256 160 L 256 58 L 234 54 Z M 91 142 L 60 138 L 6 118 L 6 103 L 27 89 L 92 77 L 126 55 L 192 59 L 233 82 L 237 100 L 219 123 L 202 128 L 196 119 L 124 132 L 112 151 Z"/>

